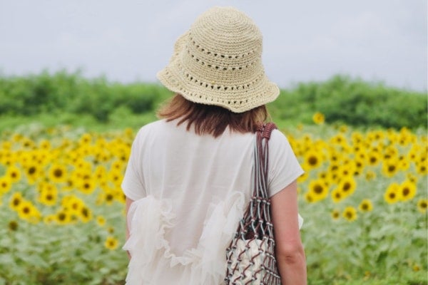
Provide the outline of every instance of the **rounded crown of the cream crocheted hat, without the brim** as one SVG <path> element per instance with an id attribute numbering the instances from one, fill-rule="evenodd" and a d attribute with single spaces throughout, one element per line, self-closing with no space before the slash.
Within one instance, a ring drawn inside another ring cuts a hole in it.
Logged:
<path id="1" fill-rule="evenodd" d="M 254 84 L 264 76 L 262 34 L 250 17 L 214 7 L 196 19 L 178 55 L 186 76 L 213 88 Z"/>

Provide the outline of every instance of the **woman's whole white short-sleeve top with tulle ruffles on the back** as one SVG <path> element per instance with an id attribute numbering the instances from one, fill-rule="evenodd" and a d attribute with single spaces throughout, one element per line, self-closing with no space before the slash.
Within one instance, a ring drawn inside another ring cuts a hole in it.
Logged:
<path id="1" fill-rule="evenodd" d="M 252 194 L 255 135 L 227 129 L 214 138 L 186 126 L 158 120 L 143 126 L 133 142 L 122 182 L 135 201 L 123 247 L 133 256 L 128 284 L 223 281 L 225 248 Z M 268 195 L 302 173 L 285 135 L 273 130 Z"/>

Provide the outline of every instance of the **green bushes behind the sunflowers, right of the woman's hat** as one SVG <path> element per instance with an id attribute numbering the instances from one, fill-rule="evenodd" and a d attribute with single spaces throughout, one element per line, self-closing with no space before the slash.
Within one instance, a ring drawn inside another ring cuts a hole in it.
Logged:
<path id="1" fill-rule="evenodd" d="M 300 83 L 282 90 L 270 108 L 274 118 L 297 119 L 299 123 L 311 123 L 312 114 L 320 112 L 326 123 L 427 128 L 427 102 L 426 93 L 334 76 L 325 82 Z"/>

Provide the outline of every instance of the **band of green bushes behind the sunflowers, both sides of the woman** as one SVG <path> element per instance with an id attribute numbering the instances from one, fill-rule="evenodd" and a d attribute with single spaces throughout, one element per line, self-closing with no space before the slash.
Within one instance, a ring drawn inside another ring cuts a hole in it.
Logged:
<path id="1" fill-rule="evenodd" d="M 103 77 L 83 78 L 78 71 L 0 76 L 0 116 L 37 118 L 51 114 L 56 118 L 67 113 L 90 115 L 98 123 L 110 124 L 118 108 L 122 120 L 135 115 L 155 118 L 156 108 L 170 95 L 157 84 L 111 83 Z M 326 123 L 397 129 L 427 128 L 427 106 L 424 93 L 347 76 L 282 89 L 279 98 L 268 104 L 275 122 L 308 124 L 312 115 L 320 112 Z"/>

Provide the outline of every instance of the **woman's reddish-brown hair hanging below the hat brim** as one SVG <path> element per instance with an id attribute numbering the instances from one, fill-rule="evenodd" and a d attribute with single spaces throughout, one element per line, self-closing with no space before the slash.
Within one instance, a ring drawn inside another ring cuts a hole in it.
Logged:
<path id="1" fill-rule="evenodd" d="M 198 135 L 210 134 L 217 138 L 228 126 L 238 133 L 255 133 L 269 114 L 265 105 L 233 113 L 220 106 L 193 103 L 177 93 L 161 106 L 157 115 L 168 122 L 180 118 L 177 125 L 187 122 L 187 130 L 194 125 Z"/>

